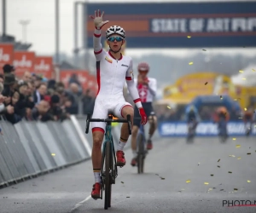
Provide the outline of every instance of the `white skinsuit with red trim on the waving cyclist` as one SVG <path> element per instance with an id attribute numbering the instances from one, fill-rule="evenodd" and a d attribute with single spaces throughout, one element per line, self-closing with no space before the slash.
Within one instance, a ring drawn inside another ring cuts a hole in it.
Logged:
<path id="1" fill-rule="evenodd" d="M 98 92 L 92 118 L 106 118 L 108 112 L 118 118 L 123 118 L 122 109 L 131 107 L 125 101 L 123 88 L 125 80 L 131 97 L 138 108 L 142 107 L 136 84 L 134 83 L 131 57 L 121 55 L 119 60 L 114 59 L 111 52 L 102 49 L 101 31 L 95 29 L 93 37 L 94 54 L 96 56 L 96 76 Z M 92 123 L 92 131 L 105 130 L 105 123 Z"/>

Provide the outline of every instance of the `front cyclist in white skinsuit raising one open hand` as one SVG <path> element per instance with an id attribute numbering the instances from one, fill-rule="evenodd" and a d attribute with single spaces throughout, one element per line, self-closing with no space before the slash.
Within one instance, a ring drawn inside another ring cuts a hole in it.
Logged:
<path id="1" fill-rule="evenodd" d="M 147 123 L 147 116 L 143 110 L 142 101 L 138 95 L 136 84 L 133 79 L 131 57 L 121 54 L 122 45 L 125 43 L 125 30 L 120 26 L 110 26 L 106 32 L 109 51 L 102 49 L 102 26 L 108 23 L 103 21 L 104 12 L 95 11 L 94 20 L 95 31 L 93 37 L 93 48 L 96 56 L 96 74 L 98 83 L 98 93 L 96 96 L 95 107 L 92 118 L 107 118 L 108 113 L 113 113 L 117 118 L 126 118 L 128 114 L 133 119 L 133 108 L 125 101 L 123 88 L 125 80 L 127 87 L 133 98 L 139 115 L 142 118 L 141 124 Z M 133 120 L 131 120 L 133 121 Z M 131 122 L 133 123 L 133 122 Z M 131 124 L 132 125 L 132 124 Z M 105 133 L 106 124 L 94 122 L 92 126 L 93 147 L 92 147 L 92 166 L 95 176 L 91 197 L 100 199 L 101 195 L 101 164 L 102 164 L 102 141 Z M 125 165 L 125 153 L 123 152 L 125 143 L 129 138 L 128 124 L 123 124 L 121 128 L 119 145 L 116 152 L 117 166 Z"/>

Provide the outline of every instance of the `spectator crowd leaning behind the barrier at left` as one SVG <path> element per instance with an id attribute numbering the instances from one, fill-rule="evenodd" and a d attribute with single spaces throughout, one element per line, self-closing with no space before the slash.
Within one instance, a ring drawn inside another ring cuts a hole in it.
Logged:
<path id="1" fill-rule="evenodd" d="M 92 113 L 95 97 L 90 93 L 75 75 L 65 89 L 64 83 L 31 72 L 19 79 L 15 67 L 6 64 L 0 73 L 0 115 L 12 124 L 22 119 L 63 121 L 72 114 Z"/>

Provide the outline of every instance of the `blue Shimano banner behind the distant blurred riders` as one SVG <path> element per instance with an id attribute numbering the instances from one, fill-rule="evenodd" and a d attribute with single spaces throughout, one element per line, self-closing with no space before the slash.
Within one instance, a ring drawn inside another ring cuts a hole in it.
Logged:
<path id="1" fill-rule="evenodd" d="M 256 135 L 255 125 L 252 125 L 252 135 Z M 186 136 L 188 134 L 188 125 L 185 122 L 162 122 L 158 125 L 158 130 L 160 136 Z M 243 122 L 229 122 L 227 130 L 230 136 L 246 135 L 246 128 Z M 201 122 L 197 125 L 195 132 L 198 136 L 217 136 L 218 124 Z"/>

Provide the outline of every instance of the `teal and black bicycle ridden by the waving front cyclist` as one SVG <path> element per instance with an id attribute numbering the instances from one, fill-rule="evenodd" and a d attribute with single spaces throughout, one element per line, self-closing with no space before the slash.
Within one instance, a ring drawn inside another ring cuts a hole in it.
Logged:
<path id="1" fill-rule="evenodd" d="M 115 179 L 118 176 L 118 170 L 116 165 L 115 151 L 113 147 L 113 136 L 111 134 L 111 123 L 128 123 L 129 134 L 131 135 L 131 115 L 127 115 L 127 119 L 113 119 L 113 115 L 109 114 L 107 119 L 90 118 L 90 114 L 87 114 L 86 119 L 86 130 L 85 133 L 89 132 L 90 122 L 105 122 L 105 141 L 102 147 L 102 166 L 101 166 L 101 186 L 102 190 L 105 191 L 104 209 L 108 210 L 111 207 L 111 190 L 112 184 L 115 184 Z M 101 199 L 102 199 L 101 190 Z"/>

